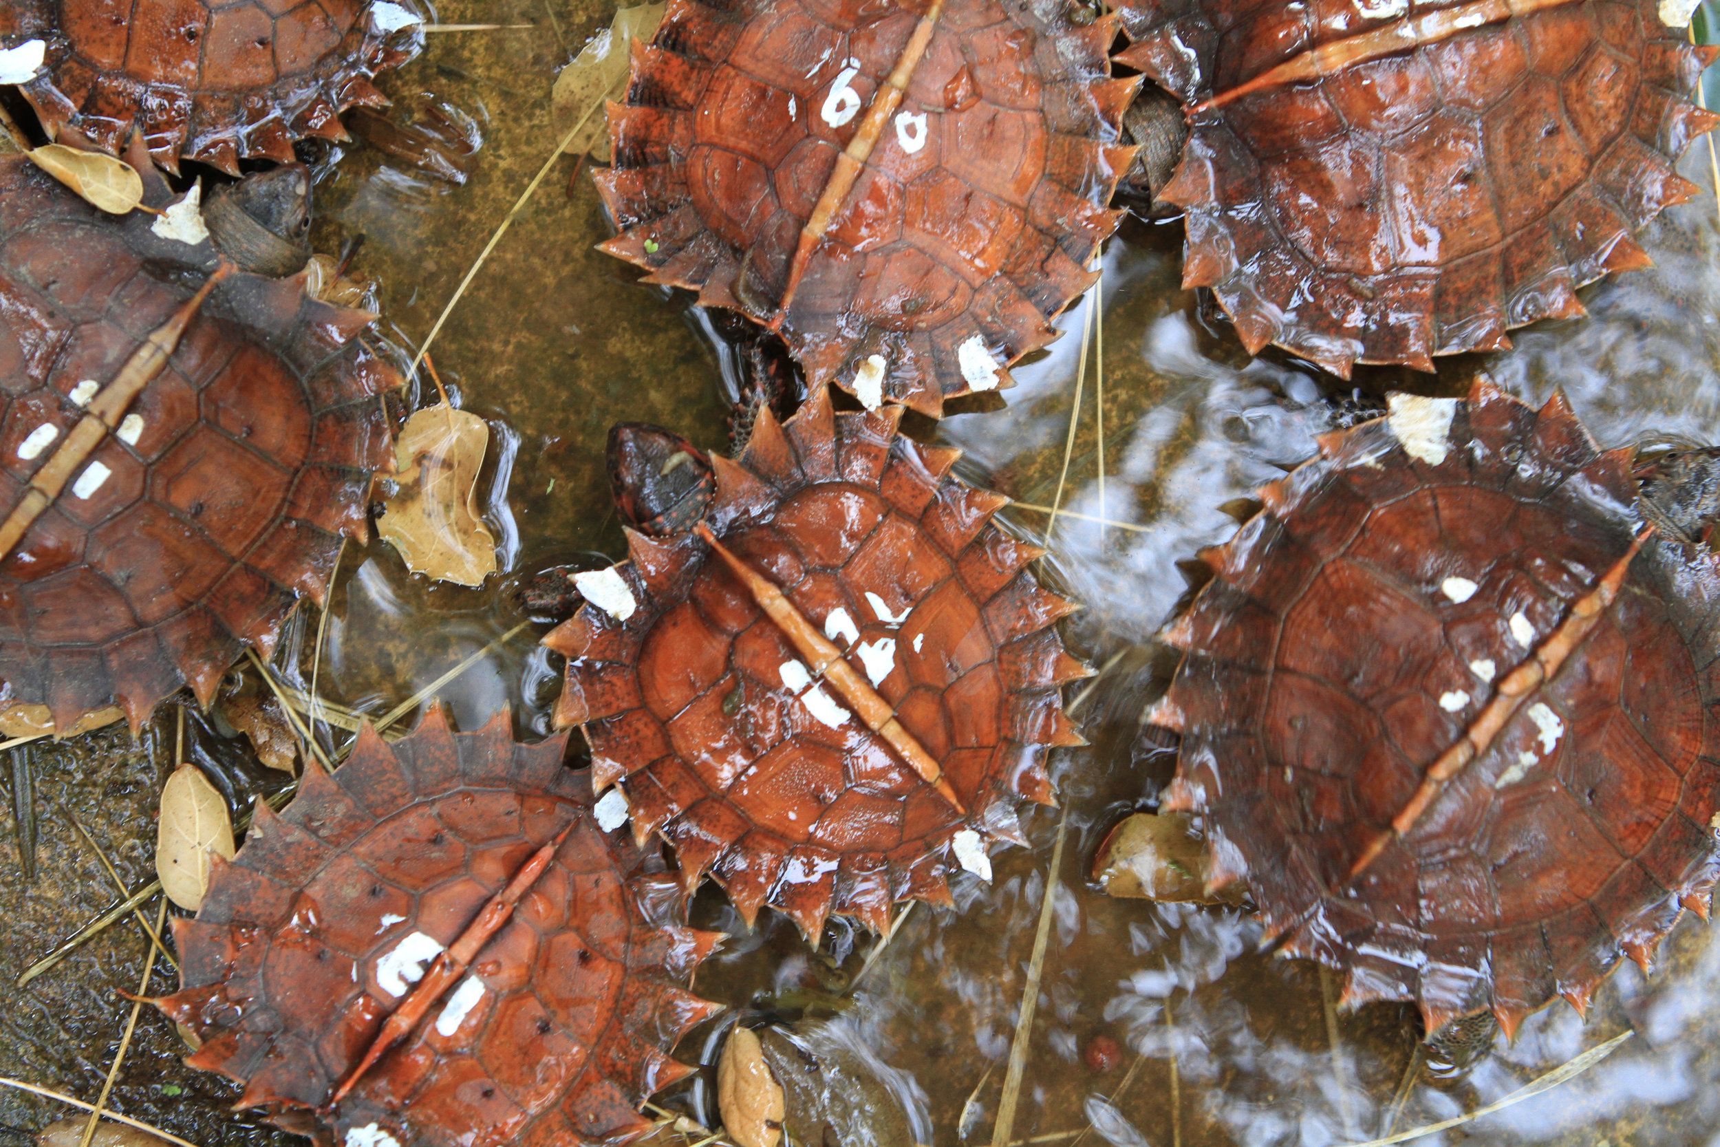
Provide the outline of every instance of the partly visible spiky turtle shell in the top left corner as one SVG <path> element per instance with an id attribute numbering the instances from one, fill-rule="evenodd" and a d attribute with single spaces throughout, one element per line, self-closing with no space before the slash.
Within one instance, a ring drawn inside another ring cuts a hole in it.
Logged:
<path id="1" fill-rule="evenodd" d="M 411 0 L 394 0 L 411 7 Z M 22 84 L 48 134 L 74 127 L 119 153 L 132 129 L 155 162 L 237 175 L 239 160 L 292 162 L 298 139 L 346 139 L 341 112 L 387 100 L 372 79 L 415 57 L 416 29 L 384 33 L 372 0 L 144 3 L 9 0 L 0 46 L 46 45 Z"/>

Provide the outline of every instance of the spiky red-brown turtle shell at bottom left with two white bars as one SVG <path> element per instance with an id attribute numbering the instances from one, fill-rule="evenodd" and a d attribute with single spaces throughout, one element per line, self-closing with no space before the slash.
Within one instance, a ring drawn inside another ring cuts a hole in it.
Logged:
<path id="1" fill-rule="evenodd" d="M 344 1144 L 602 1144 L 650 1126 L 640 1104 L 690 1071 L 669 1049 L 717 1008 L 686 985 L 721 935 L 683 927 L 660 860 L 597 825 L 564 748 L 516 745 L 506 712 L 456 734 L 433 708 L 392 746 L 366 727 L 334 777 L 306 769 L 279 817 L 260 803 L 196 920 L 174 922 L 184 984 L 157 1006 L 203 1040 L 187 1063 L 292 1130 L 315 1111 Z M 564 829 L 459 985 L 329 1109 L 421 965 Z"/>

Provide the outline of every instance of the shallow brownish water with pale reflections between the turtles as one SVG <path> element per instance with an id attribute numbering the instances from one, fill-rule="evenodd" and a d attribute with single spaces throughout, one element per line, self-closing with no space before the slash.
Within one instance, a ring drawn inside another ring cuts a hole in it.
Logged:
<path id="1" fill-rule="evenodd" d="M 402 122 L 421 93 L 471 117 L 483 146 L 470 179 L 442 182 L 366 146 L 323 172 L 318 249 L 365 237 L 354 270 L 380 284 L 384 334 L 399 346 L 425 339 L 550 160 L 562 131 L 550 122 L 550 83 L 611 10 L 597 0 L 444 3 L 439 19 L 449 24 L 530 26 L 432 34 L 425 55 L 384 84 Z M 655 421 L 702 447 L 724 444 L 721 349 L 709 323 L 685 296 L 638 285 L 635 272 L 593 251 L 607 232 L 583 174 L 569 193 L 574 167 L 571 156 L 550 163 L 430 347 L 459 402 L 495 430 L 480 494 L 502 573 L 478 590 L 437 586 L 382 543 L 349 547 L 320 660 L 313 610 L 282 653 L 299 681 L 315 660 L 334 702 L 382 714 L 476 655 L 440 691 L 458 724 L 476 727 L 511 705 L 523 734 L 545 734 L 559 681 L 533 643 L 542 628 L 497 641 L 525 619 L 513 600 L 523 578 L 621 552 L 602 469 L 609 426 Z M 1710 186 L 1705 146 L 1686 169 Z M 1515 349 L 1445 363 L 1438 377 L 1373 370 L 1357 385 L 1460 394 L 1486 370 L 1533 401 L 1563 387 L 1608 445 L 1715 440 L 1717 242 L 1713 196 L 1674 208 L 1644 237 L 1658 270 L 1584 291 L 1593 318 L 1545 323 L 1519 334 Z M 793 1025 L 800 1049 L 784 1042 L 772 1054 L 781 1071 L 798 1068 L 796 1142 L 991 1142 L 1061 825 L 1020 1142 L 1348 1144 L 1495 1102 L 1632 1032 L 1557 1090 L 1421 1142 L 1720 1144 L 1711 1130 L 1720 1128 L 1720 946 L 1699 923 L 1677 929 L 1653 975 L 1634 966 L 1615 975 L 1586 1023 L 1557 1004 L 1529 1020 L 1515 1046 L 1441 1082 L 1422 1068 L 1409 1009 L 1331 1013 L 1333 984 L 1312 965 L 1257 954 L 1259 929 L 1245 913 L 1111 901 L 1087 886 L 1103 829 L 1147 807 L 1173 764 L 1140 731 L 1140 714 L 1173 664 L 1152 635 L 1187 588 L 1178 562 L 1226 538 L 1238 499 L 1312 452 L 1312 437 L 1330 426 L 1323 396 L 1347 392 L 1283 358 L 1249 361 L 1178 289 L 1180 244 L 1180 225 L 1127 225 L 1104 255 L 1103 335 L 1090 339 L 1085 368 L 1082 330 L 1096 297 L 1061 320 L 1068 337 L 1017 370 L 1003 402 L 937 428 L 967 451 L 967 478 L 1023 504 L 1004 514 L 1020 531 L 1049 533 L 1053 576 L 1089 604 L 1070 640 L 1109 666 L 1082 700 L 1092 748 L 1058 762 L 1065 812 L 1035 812 L 1030 850 L 999 855 L 991 886 L 963 875 L 956 911 L 910 911 L 869 966 L 869 937 L 831 929 L 810 953 L 783 918 L 748 935 L 707 894 L 702 923 L 736 939 L 702 973 L 700 991 Z M 1063 512 L 1053 524 L 1034 506 Z M 148 879 L 172 736 L 169 717 L 138 746 L 105 733 L 14 750 L 29 753 L 38 788 L 41 870 L 34 882 L 15 867 L 0 874 L 0 982 L 110 903 L 112 886 L 71 815 L 105 843 L 127 884 Z M 198 722 L 191 743 L 220 757 L 236 807 L 268 781 Z M 136 987 L 139 953 L 136 925 L 122 923 L 31 987 L 0 994 L 9 1004 L 0 1070 L 93 1095 L 127 1013 L 114 991 Z M 709 1061 L 728 1021 L 688 1037 L 681 1058 Z M 1084 1054 L 1099 1037 L 1121 1051 L 1106 1070 Z M 234 1090 L 181 1068 L 177 1051 L 172 1028 L 144 1013 L 114 1107 L 210 1147 L 270 1135 L 218 1111 Z M 705 1082 L 660 1102 L 717 1119 Z M 0 1135 L 60 1114 L 52 1102 L 0 1094 Z"/>

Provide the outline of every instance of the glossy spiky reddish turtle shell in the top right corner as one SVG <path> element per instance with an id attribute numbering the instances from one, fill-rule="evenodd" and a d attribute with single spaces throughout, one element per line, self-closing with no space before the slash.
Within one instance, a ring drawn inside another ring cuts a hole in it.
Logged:
<path id="1" fill-rule="evenodd" d="M 1316 14 L 1357 34 L 1404 5 L 1133 0 L 1118 58 L 1194 107 L 1333 40 Z M 1343 377 L 1582 315 L 1576 289 L 1648 267 L 1632 232 L 1696 194 L 1674 163 L 1717 122 L 1687 101 L 1713 55 L 1656 0 L 1574 0 L 1194 112 L 1163 193 L 1187 212 L 1183 285 L 1249 351 Z"/>

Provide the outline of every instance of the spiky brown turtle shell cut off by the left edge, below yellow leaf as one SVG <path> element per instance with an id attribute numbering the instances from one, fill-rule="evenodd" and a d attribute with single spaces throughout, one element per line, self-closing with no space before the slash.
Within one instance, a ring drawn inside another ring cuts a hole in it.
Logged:
<path id="1" fill-rule="evenodd" d="M 153 218 L 103 215 L 0 160 L 5 511 L 84 414 L 79 385 L 110 383 L 213 270 L 206 242 L 163 239 Z M 394 468 L 378 394 L 399 378 L 354 339 L 372 318 L 299 277 L 217 287 L 79 469 L 107 478 L 62 490 L 0 561 L 0 698 L 46 705 L 60 729 L 117 703 L 136 729 L 182 684 L 208 705 L 246 645 L 273 652 L 299 597 L 322 600 L 341 538 L 365 538 L 373 473 Z M 43 425 L 53 440 L 26 457 Z"/>

